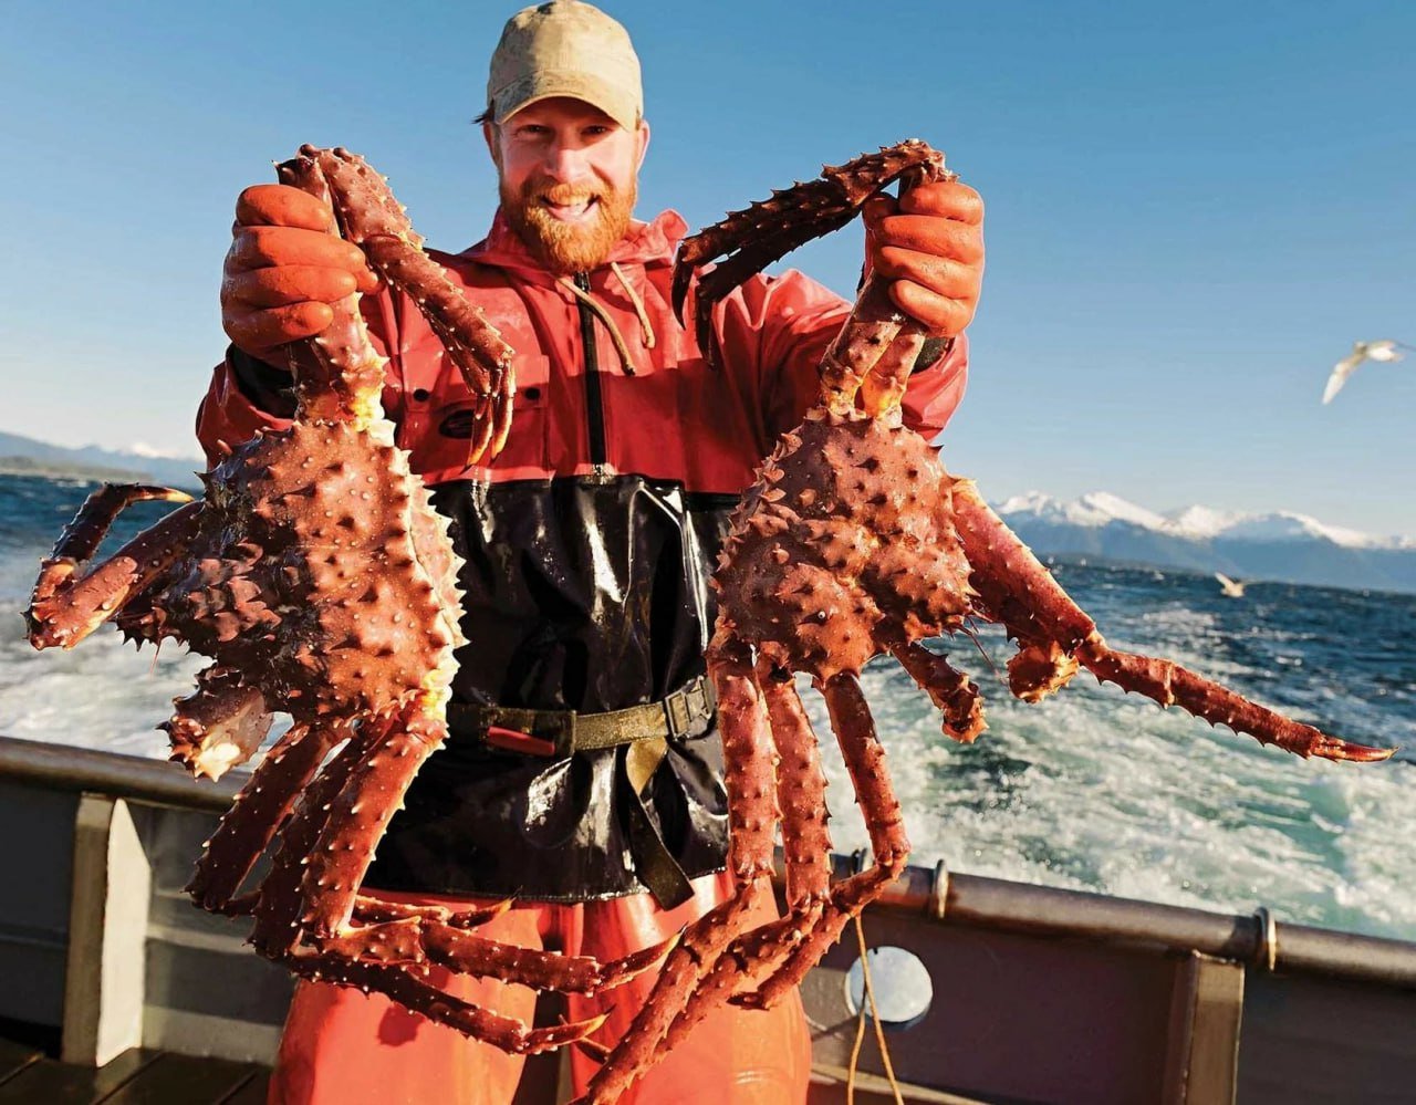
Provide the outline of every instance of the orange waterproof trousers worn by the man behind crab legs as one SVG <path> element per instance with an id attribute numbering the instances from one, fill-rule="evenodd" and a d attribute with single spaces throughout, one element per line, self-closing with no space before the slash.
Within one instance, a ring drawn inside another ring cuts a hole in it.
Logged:
<path id="1" fill-rule="evenodd" d="M 649 894 L 576 905 L 517 904 L 479 935 L 566 955 L 619 959 L 678 932 L 731 894 L 728 874 L 694 880 L 694 898 L 660 910 Z M 394 897 L 394 895 L 389 895 Z M 399 901 L 460 905 L 447 898 Z M 773 910 L 770 901 L 765 907 Z M 767 917 L 759 918 L 766 921 Z M 497 979 L 452 976 L 433 982 L 466 1002 L 531 1023 L 537 996 Z M 654 985 L 646 972 L 613 990 L 568 994 L 571 1020 L 610 1010 L 595 1038 L 613 1044 Z M 525 1060 L 409 1013 L 381 994 L 300 982 L 270 1078 L 270 1105 L 507 1105 Z M 596 1064 L 571 1051 L 575 1095 Z M 811 1040 L 796 993 L 772 1010 L 719 1006 L 624 1096 L 622 1105 L 803 1105 Z M 549 1105 L 549 1102 L 547 1104 Z"/>

